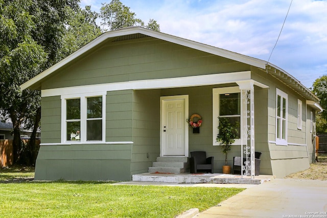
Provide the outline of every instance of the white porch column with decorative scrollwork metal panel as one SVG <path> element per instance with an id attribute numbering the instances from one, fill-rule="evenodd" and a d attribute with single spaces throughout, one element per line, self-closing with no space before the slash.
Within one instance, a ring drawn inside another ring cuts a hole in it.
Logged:
<path id="1" fill-rule="evenodd" d="M 238 85 L 241 90 L 241 174 L 242 178 L 245 175 L 254 179 L 254 86 L 253 81 L 238 82 Z"/>

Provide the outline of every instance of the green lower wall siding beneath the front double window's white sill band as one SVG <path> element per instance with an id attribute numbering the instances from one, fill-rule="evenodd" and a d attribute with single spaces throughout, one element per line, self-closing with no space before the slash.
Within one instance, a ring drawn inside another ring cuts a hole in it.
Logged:
<path id="1" fill-rule="evenodd" d="M 41 145 L 36 180 L 131 180 L 131 144 Z"/>

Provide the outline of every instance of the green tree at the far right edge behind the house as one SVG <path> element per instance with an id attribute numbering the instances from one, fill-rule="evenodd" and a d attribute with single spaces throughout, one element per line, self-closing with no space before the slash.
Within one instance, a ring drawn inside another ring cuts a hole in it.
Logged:
<path id="1" fill-rule="evenodd" d="M 327 133 L 327 75 L 316 79 L 313 83 L 313 93 L 320 99 L 320 105 L 324 109 L 316 116 L 316 132 Z"/>

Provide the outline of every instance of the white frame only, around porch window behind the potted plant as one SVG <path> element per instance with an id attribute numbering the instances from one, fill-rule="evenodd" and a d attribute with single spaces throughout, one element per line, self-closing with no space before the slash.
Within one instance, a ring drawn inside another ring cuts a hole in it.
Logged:
<path id="1" fill-rule="evenodd" d="M 233 87 L 226 87 L 226 88 L 215 88 L 213 89 L 213 145 L 219 145 L 219 142 L 216 142 L 216 137 L 218 134 L 218 125 L 219 120 L 217 119 L 219 117 L 219 101 L 220 101 L 220 94 L 227 94 L 227 93 L 241 93 L 241 90 L 239 86 L 233 86 Z M 241 101 L 241 99 L 240 99 Z M 242 103 L 242 102 L 240 102 Z M 237 115 L 240 117 L 240 121 L 242 121 L 242 112 L 240 112 L 240 115 Z M 242 133 L 241 138 L 242 138 Z M 235 142 L 232 145 L 240 145 L 241 139 L 235 139 Z"/>

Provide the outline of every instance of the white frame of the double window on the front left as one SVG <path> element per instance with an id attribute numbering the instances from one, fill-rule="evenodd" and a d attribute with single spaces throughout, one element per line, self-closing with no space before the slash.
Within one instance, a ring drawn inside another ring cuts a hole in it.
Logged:
<path id="1" fill-rule="evenodd" d="M 83 93 L 78 95 L 62 95 L 61 96 L 61 143 L 83 143 L 83 144 L 96 144 L 105 142 L 106 140 L 106 92 Z M 87 112 L 87 98 L 102 96 L 102 140 L 87 141 L 87 126 L 86 126 L 86 112 Z M 81 100 L 81 138 L 79 141 L 71 141 L 66 139 L 66 100 L 77 99 Z"/>

